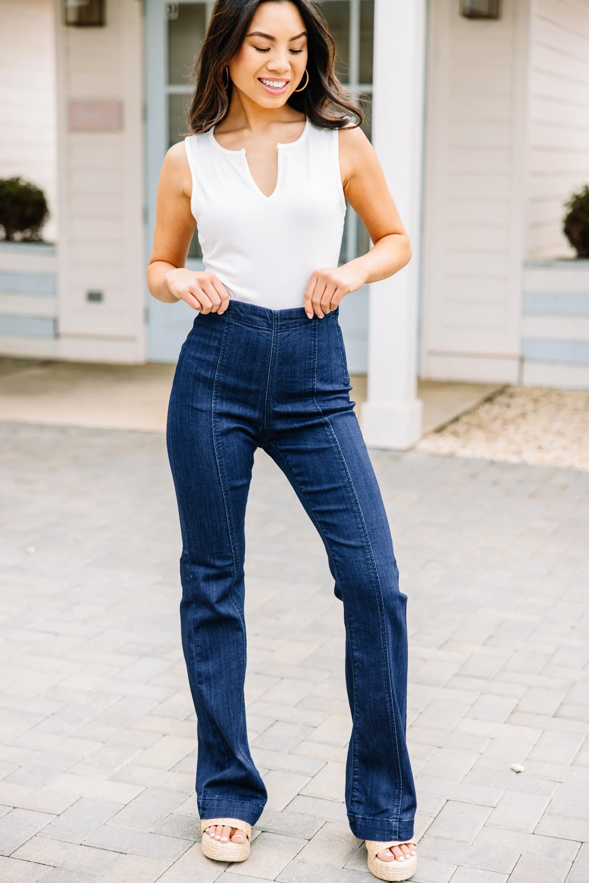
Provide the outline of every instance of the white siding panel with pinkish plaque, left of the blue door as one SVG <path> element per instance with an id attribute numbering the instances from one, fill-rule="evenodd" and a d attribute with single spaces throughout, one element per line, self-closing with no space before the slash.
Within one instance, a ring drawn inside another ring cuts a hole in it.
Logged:
<path id="1" fill-rule="evenodd" d="M 141 10 L 117 0 L 105 27 L 57 28 L 64 358 L 145 360 Z M 68 131 L 68 103 L 85 100 L 122 102 L 122 130 Z"/>

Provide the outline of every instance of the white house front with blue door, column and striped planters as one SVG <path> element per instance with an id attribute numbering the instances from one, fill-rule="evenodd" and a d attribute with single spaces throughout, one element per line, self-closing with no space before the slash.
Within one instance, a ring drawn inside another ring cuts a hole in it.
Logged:
<path id="1" fill-rule="evenodd" d="M 561 231 L 589 182 L 589 0 L 321 5 L 415 254 L 341 310 L 367 442 L 417 441 L 418 375 L 589 388 L 589 262 Z M 0 353 L 175 360 L 193 313 L 145 267 L 212 6 L 0 0 L 0 177 L 42 186 L 54 243 L 0 242 Z M 350 212 L 342 259 L 367 245 Z"/>

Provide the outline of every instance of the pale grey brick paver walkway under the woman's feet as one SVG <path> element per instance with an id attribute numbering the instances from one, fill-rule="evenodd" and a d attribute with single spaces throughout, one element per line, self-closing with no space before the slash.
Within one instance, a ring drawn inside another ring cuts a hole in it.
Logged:
<path id="1" fill-rule="evenodd" d="M 225 868 L 196 842 L 162 436 L 3 425 L 0 452 L 3 883 L 373 879 L 342 802 L 342 608 L 274 464 L 257 458 L 247 525 L 247 702 L 270 797 L 250 859 Z M 374 464 L 410 598 L 416 883 L 586 883 L 589 474 Z"/>

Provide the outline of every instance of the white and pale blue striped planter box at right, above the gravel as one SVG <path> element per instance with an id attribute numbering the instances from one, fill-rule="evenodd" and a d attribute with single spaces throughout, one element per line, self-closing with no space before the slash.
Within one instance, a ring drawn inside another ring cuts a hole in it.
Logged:
<path id="1" fill-rule="evenodd" d="M 589 389 L 589 260 L 525 265 L 521 351 L 527 386 Z"/>

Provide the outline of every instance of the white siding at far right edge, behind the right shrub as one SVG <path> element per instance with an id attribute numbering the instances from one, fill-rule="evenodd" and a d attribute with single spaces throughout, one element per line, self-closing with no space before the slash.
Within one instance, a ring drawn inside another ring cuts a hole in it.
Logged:
<path id="1" fill-rule="evenodd" d="M 527 256 L 574 254 L 563 203 L 589 184 L 589 0 L 533 0 Z"/>

